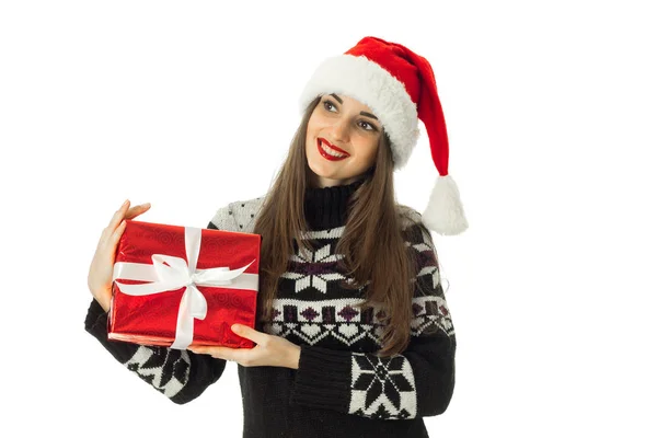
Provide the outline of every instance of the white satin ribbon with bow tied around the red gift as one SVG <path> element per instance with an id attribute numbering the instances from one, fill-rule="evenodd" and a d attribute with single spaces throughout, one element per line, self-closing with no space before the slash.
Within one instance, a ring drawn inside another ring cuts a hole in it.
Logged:
<path id="1" fill-rule="evenodd" d="M 116 262 L 113 280 L 152 281 L 143 285 L 125 285 L 116 281 L 118 289 L 126 295 L 145 296 L 162 293 L 185 288 L 178 308 L 175 339 L 171 348 L 185 349 L 194 338 L 194 319 L 204 320 L 208 303 L 196 286 L 221 286 L 231 289 L 257 290 L 257 274 L 243 274 L 253 262 L 239 269 L 230 270 L 228 266 L 210 269 L 197 269 L 200 252 L 200 228 L 185 227 L 185 252 L 189 263 L 184 258 L 166 254 L 153 254 L 152 264 Z M 166 266 L 164 264 L 169 266 Z"/>

